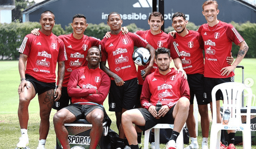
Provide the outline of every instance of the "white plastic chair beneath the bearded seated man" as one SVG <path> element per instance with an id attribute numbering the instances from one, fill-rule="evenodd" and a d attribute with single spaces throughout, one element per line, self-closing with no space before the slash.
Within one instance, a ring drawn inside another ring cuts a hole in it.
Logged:
<path id="1" fill-rule="evenodd" d="M 185 125 L 183 126 L 185 127 Z M 149 142 L 149 135 L 150 135 L 150 130 L 151 129 L 155 129 L 155 148 L 160 148 L 160 129 L 174 129 L 174 125 L 173 124 L 168 124 L 168 123 L 159 123 L 157 125 L 155 125 L 154 127 L 148 129 L 145 131 L 145 138 L 144 138 L 144 149 L 148 149 L 148 142 Z M 184 147 L 184 143 L 183 143 L 183 129 L 182 131 L 180 131 L 180 134 L 176 140 L 177 143 L 177 147 L 178 149 L 183 149 Z"/>

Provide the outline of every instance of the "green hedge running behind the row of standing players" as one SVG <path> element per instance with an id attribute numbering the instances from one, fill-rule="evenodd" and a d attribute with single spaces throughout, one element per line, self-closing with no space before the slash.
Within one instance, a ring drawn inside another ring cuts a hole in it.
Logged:
<path id="1" fill-rule="evenodd" d="M 256 23 L 242 23 L 238 24 L 235 22 L 231 22 L 231 24 L 237 29 L 240 35 L 245 39 L 247 45 L 249 46 L 249 51 L 245 55 L 247 58 L 255 58 L 256 57 Z M 12 22 L 10 24 L 0 23 L 0 59 L 9 59 L 9 60 L 17 60 L 19 57 L 18 48 L 20 47 L 23 38 L 31 32 L 34 28 L 40 28 L 41 25 L 39 22 Z M 134 23 L 126 26 L 129 31 L 135 32 L 137 30 L 143 30 L 138 28 Z M 187 29 L 189 30 L 197 30 L 199 26 L 195 26 L 194 23 L 189 22 L 187 24 Z M 174 30 L 172 27 L 165 28 L 165 32 L 170 32 Z M 110 28 L 107 24 L 92 24 L 89 23 L 85 34 L 87 36 L 96 37 L 102 39 L 107 31 L 110 31 Z M 55 35 L 64 35 L 71 34 L 73 29 L 71 24 L 69 26 L 65 26 L 65 30 L 61 27 L 61 24 L 55 24 L 52 29 Z M 232 47 L 232 55 L 234 57 L 237 56 L 239 50 L 239 46 L 234 45 Z"/>

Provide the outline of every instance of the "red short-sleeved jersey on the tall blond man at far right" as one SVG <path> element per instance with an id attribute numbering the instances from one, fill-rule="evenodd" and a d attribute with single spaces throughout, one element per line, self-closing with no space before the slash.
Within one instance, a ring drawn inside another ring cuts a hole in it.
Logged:
<path id="1" fill-rule="evenodd" d="M 205 44 L 205 77 L 208 78 L 228 78 L 234 76 L 231 72 L 228 76 L 221 75 L 221 69 L 230 66 L 226 62 L 230 56 L 232 42 L 236 45 L 244 39 L 237 32 L 232 24 L 220 21 L 213 27 L 202 24 L 198 29 Z"/>

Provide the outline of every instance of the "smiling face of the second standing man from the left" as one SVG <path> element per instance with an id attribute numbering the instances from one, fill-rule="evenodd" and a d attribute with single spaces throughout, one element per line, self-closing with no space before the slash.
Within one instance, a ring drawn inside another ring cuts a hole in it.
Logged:
<path id="1" fill-rule="evenodd" d="M 81 35 L 84 34 L 88 24 L 86 23 L 85 18 L 74 18 L 71 26 L 74 34 Z"/>

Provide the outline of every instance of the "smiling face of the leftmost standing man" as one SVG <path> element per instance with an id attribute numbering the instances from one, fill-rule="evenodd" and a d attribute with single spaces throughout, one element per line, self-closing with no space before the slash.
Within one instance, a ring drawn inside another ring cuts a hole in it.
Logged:
<path id="1" fill-rule="evenodd" d="M 55 25 L 54 14 L 43 13 L 41 15 L 40 24 L 41 24 L 42 30 L 51 31 Z"/>

